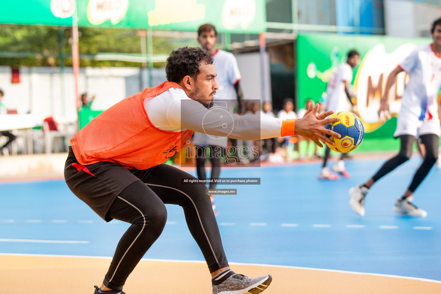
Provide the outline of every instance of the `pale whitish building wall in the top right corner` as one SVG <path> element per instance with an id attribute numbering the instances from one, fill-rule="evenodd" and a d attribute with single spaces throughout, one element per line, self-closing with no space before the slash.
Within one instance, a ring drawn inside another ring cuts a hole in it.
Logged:
<path id="1" fill-rule="evenodd" d="M 432 22 L 441 7 L 410 0 L 385 0 L 386 34 L 394 37 L 430 37 Z"/>

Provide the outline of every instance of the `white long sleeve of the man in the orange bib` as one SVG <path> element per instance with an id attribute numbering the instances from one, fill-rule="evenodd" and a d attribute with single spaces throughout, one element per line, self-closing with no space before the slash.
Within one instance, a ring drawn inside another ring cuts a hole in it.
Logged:
<path id="1" fill-rule="evenodd" d="M 210 109 L 190 99 L 178 87 L 144 100 L 144 108 L 152 125 L 164 132 L 190 129 L 209 134 L 210 145 L 222 146 L 223 138 L 255 140 L 280 136 L 283 119 L 259 115 L 230 114 L 225 107 L 214 104 Z M 260 129 L 259 126 L 260 125 Z M 215 138 L 219 139 L 215 139 Z M 207 145 L 199 145 L 207 146 Z"/>

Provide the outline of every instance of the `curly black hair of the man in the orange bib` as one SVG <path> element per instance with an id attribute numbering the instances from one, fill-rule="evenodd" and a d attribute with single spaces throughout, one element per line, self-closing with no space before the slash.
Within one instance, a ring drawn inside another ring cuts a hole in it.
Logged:
<path id="1" fill-rule="evenodd" d="M 213 64 L 213 57 L 205 49 L 183 47 L 172 51 L 165 66 L 167 81 L 179 83 L 185 76 L 190 76 L 196 80 L 201 62 Z"/>

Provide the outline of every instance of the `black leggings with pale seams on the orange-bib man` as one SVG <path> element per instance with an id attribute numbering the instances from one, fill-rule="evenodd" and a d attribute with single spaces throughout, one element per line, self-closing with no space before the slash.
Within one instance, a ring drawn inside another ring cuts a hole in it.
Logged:
<path id="1" fill-rule="evenodd" d="M 103 282 L 106 287 L 121 290 L 139 260 L 161 235 L 167 220 L 164 203 L 182 206 L 187 226 L 210 272 L 228 266 L 206 186 L 181 184 L 181 178 L 188 177 L 188 173 L 173 166 L 157 165 L 118 195 L 107 215 L 132 225 L 116 247 Z"/>

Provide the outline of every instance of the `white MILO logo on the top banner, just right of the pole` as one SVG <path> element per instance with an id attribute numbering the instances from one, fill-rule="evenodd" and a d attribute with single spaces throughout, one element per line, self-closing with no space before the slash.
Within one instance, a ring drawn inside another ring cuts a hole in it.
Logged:
<path id="1" fill-rule="evenodd" d="M 128 7 L 128 0 L 89 0 L 87 19 L 93 25 L 110 19 L 112 25 L 115 25 L 126 15 Z"/>

